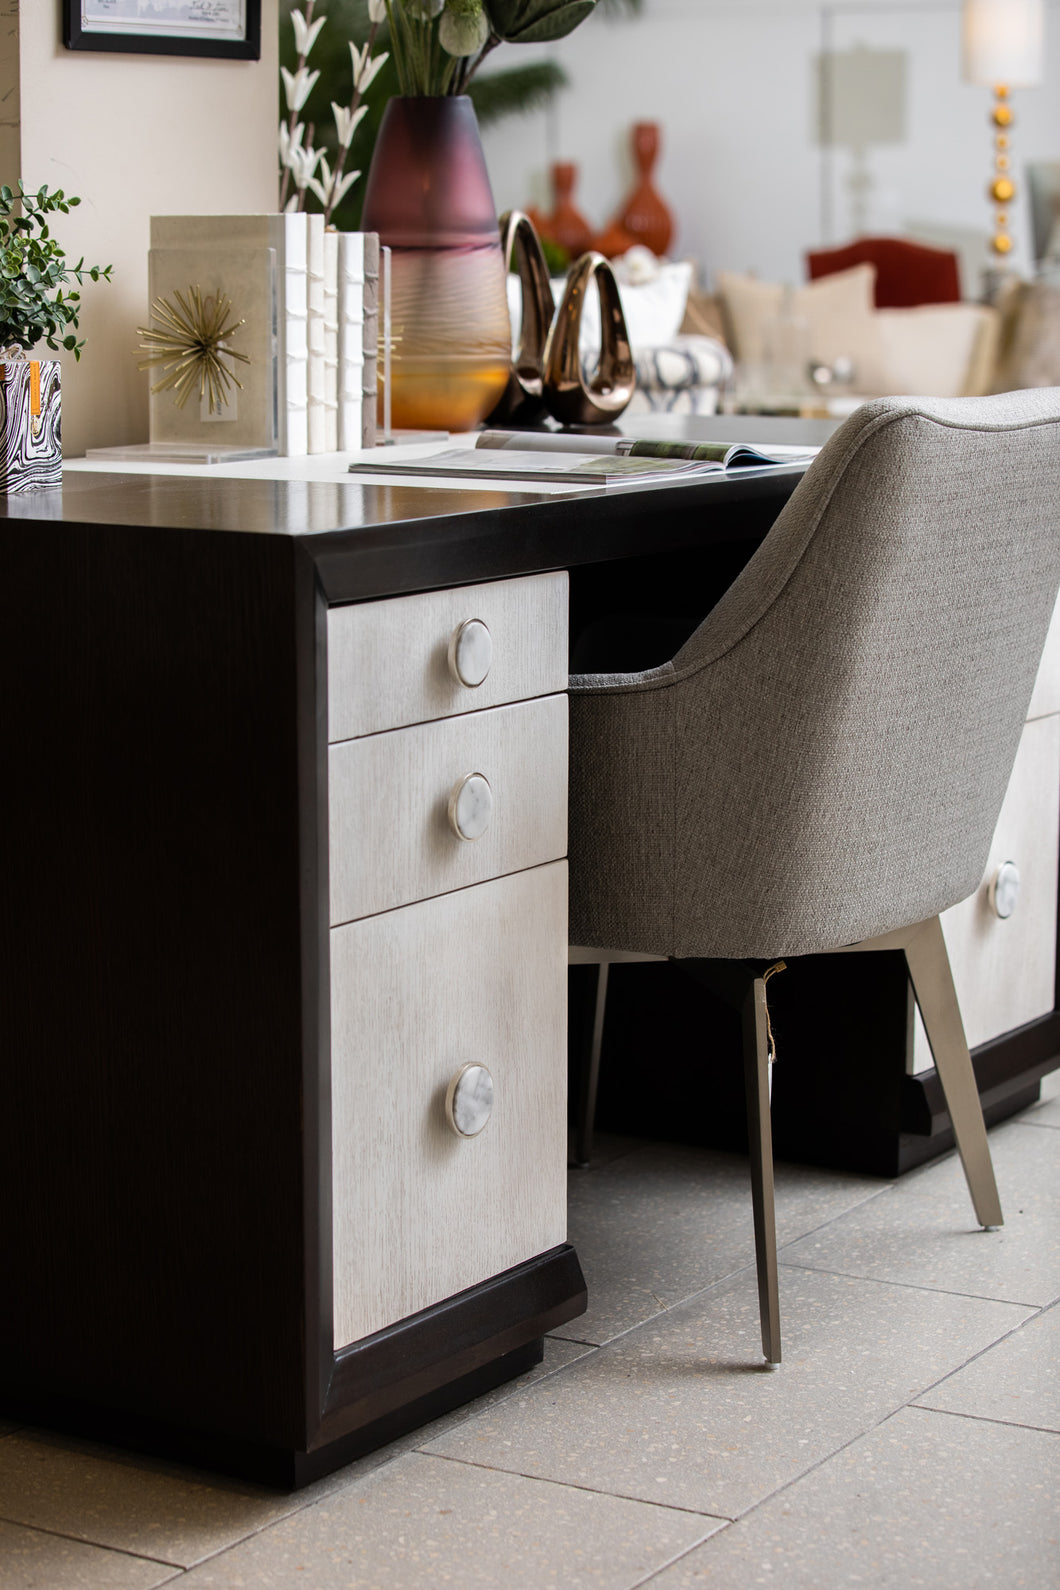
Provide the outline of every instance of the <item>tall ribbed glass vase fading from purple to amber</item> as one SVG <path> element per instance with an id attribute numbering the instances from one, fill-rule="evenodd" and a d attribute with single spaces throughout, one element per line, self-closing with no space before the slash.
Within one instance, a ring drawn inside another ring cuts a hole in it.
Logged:
<path id="1" fill-rule="evenodd" d="M 472 429 L 507 385 L 512 331 L 501 231 L 469 99 L 389 100 L 361 224 L 393 250 L 393 425 Z"/>

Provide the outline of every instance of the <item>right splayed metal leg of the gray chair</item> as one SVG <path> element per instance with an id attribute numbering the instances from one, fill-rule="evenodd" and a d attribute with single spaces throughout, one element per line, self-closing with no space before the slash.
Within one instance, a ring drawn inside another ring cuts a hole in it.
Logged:
<path id="1" fill-rule="evenodd" d="M 987 1127 L 938 916 L 914 930 L 904 951 L 976 1218 L 981 1226 L 1000 1226 L 1001 1200 L 990 1162 Z"/>

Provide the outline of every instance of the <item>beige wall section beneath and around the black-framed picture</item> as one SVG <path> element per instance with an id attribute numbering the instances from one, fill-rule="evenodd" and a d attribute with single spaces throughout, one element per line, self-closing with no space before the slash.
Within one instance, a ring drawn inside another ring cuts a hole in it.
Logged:
<path id="1" fill-rule="evenodd" d="M 56 235 L 70 259 L 114 266 L 110 283 L 84 288 L 81 363 L 64 355 L 62 450 L 75 458 L 148 437 L 137 326 L 149 216 L 277 205 L 278 27 L 277 0 L 262 0 L 261 60 L 119 56 L 64 49 L 60 13 L 57 0 L 21 0 L 21 175 L 79 194 Z"/>

